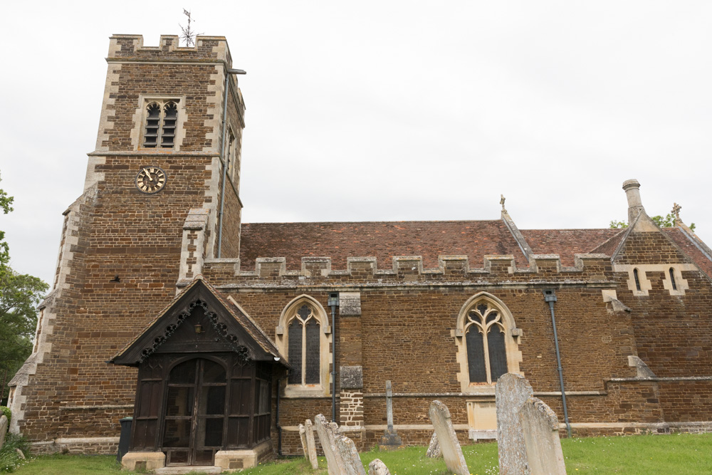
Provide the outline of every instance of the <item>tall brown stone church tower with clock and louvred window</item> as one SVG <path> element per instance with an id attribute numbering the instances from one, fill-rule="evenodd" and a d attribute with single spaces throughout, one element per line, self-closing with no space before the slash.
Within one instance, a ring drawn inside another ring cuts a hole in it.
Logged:
<path id="1" fill-rule="evenodd" d="M 192 278 L 187 221 L 205 229 L 196 259 L 236 257 L 242 208 L 245 105 L 226 39 L 116 35 L 107 62 L 84 192 L 64 213 L 54 290 L 11 382 L 14 431 L 85 452 L 109 447 L 108 426 L 132 414 L 136 372 L 106 361 Z"/>

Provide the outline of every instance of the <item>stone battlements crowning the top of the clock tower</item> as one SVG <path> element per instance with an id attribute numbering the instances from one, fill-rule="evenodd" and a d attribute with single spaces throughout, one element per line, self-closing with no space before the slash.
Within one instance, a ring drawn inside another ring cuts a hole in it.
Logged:
<path id="1" fill-rule="evenodd" d="M 159 46 L 143 46 L 142 35 L 112 35 L 107 61 L 224 62 L 232 56 L 224 36 L 197 36 L 195 46 L 180 46 L 175 35 L 161 35 Z"/>

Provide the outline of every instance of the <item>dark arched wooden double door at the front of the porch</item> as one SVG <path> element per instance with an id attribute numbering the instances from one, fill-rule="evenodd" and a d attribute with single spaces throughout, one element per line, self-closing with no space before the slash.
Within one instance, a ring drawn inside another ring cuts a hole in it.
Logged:
<path id="1" fill-rule="evenodd" d="M 224 446 L 225 367 L 204 358 L 176 365 L 167 382 L 162 449 L 166 465 L 214 465 Z"/>

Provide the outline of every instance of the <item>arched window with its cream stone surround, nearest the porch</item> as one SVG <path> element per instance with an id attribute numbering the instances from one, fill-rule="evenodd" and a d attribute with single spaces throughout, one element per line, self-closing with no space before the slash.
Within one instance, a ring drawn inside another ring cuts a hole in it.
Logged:
<path id="1" fill-rule="evenodd" d="M 276 343 L 293 369 L 285 397 L 330 395 L 331 327 L 322 304 L 307 294 L 282 310 Z"/>

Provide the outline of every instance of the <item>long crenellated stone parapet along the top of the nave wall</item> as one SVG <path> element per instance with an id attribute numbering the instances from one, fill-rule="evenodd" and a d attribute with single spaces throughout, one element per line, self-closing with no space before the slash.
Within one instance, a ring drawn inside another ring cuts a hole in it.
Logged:
<path id="1" fill-rule="evenodd" d="M 468 256 L 439 256 L 438 267 L 424 268 L 422 256 L 394 256 L 390 268 L 379 268 L 372 256 L 347 258 L 346 268 L 335 269 L 329 257 L 303 257 L 299 270 L 289 270 L 286 258 L 256 259 L 253 269 L 240 259 L 205 259 L 202 274 L 217 286 L 347 285 L 394 283 L 597 283 L 612 284 L 610 257 L 576 254 L 575 266 L 562 266 L 557 255 L 530 256 L 527 267 L 517 267 L 512 255 L 487 255 L 481 267 L 471 267 Z"/>

